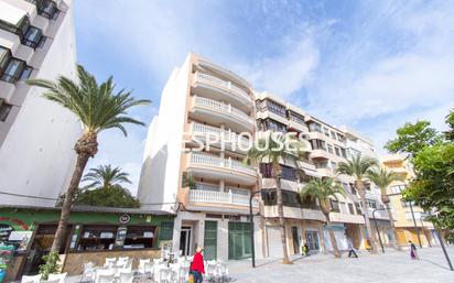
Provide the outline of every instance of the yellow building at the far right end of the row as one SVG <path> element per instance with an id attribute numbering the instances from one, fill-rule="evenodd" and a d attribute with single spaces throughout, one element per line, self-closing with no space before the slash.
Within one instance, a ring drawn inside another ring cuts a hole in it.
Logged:
<path id="1" fill-rule="evenodd" d="M 414 177 L 411 165 L 400 155 L 381 156 L 380 161 L 387 170 L 399 174 L 403 178 L 403 181 L 394 181 L 388 188 L 398 243 L 408 246 L 408 241 L 413 241 L 419 244 L 421 240 L 422 246 L 434 244 L 435 239 L 437 239 L 436 233 L 432 222 L 424 219 L 426 216 L 424 210 L 402 199 L 401 192 L 409 181 Z"/>

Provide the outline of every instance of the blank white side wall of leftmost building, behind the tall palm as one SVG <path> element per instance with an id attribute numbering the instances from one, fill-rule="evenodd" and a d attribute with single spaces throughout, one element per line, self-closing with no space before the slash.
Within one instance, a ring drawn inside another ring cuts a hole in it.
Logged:
<path id="1" fill-rule="evenodd" d="M 36 77 L 74 78 L 75 64 L 74 17 L 69 8 Z M 0 148 L 0 191 L 56 198 L 69 182 L 75 164 L 73 148 L 82 128 L 74 115 L 42 98 L 41 92 L 42 89 L 30 88 Z M 0 195 L 1 204 L 54 206 L 51 200 L 6 195 Z"/>

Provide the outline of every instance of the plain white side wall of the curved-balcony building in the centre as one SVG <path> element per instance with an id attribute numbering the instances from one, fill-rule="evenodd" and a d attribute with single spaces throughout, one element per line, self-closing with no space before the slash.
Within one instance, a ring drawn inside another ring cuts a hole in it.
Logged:
<path id="1" fill-rule="evenodd" d="M 180 184 L 180 164 L 191 57 L 170 76 L 158 117 L 150 124 L 138 196 L 142 207 L 173 211 Z"/>

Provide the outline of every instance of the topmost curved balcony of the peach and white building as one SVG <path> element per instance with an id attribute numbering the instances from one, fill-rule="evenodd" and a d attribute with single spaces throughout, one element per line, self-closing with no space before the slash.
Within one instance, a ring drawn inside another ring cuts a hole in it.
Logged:
<path id="1" fill-rule="evenodd" d="M 239 108 L 249 109 L 252 107 L 252 98 L 245 89 L 213 75 L 196 72 L 194 75 L 194 90 L 215 99 L 229 100 Z"/>

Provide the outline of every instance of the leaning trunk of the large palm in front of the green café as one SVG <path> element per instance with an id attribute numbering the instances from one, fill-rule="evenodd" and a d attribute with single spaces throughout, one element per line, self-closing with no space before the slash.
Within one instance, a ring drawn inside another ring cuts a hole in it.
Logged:
<path id="1" fill-rule="evenodd" d="M 62 205 L 62 213 L 60 215 L 58 227 L 55 232 L 54 242 L 52 243 L 52 251 L 60 251 L 63 241 L 65 240 L 66 226 L 71 215 L 71 207 L 73 205 L 74 196 L 80 183 L 82 175 L 84 174 L 85 166 L 88 159 L 95 156 L 98 151 L 96 133 L 85 133 L 74 146 L 77 153 L 76 167 L 74 168 L 73 176 L 71 177 L 69 187 L 66 191 L 65 199 Z"/>

